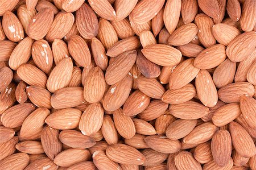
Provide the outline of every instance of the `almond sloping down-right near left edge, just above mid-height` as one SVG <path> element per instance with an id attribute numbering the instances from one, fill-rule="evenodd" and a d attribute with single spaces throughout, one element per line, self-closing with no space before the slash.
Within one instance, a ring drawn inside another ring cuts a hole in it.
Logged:
<path id="1" fill-rule="evenodd" d="M 27 84 L 46 88 L 47 77 L 44 72 L 31 64 L 23 64 L 17 70 L 18 76 Z M 36 76 L 35 76 L 36 75 Z"/>

